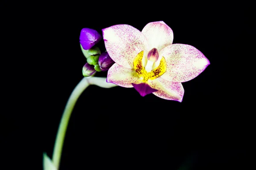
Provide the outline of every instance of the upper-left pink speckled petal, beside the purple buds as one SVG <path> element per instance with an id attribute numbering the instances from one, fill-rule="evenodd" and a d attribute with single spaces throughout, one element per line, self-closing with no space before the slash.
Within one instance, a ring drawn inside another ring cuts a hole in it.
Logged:
<path id="1" fill-rule="evenodd" d="M 102 29 L 109 56 L 125 68 L 133 68 L 133 60 L 147 47 L 144 35 L 129 25 L 115 25 Z"/>

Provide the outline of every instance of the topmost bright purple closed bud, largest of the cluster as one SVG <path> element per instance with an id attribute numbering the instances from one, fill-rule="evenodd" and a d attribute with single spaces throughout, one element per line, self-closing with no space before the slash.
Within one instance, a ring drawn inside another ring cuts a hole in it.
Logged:
<path id="1" fill-rule="evenodd" d="M 102 39 L 102 36 L 94 29 L 83 28 L 79 39 L 84 50 L 89 50 Z"/>

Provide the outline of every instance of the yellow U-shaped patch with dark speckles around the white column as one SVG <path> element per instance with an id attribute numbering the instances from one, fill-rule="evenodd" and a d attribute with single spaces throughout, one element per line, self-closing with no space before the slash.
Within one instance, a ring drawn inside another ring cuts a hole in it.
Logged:
<path id="1" fill-rule="evenodd" d="M 145 70 L 145 68 L 142 65 L 142 58 L 143 58 L 143 51 L 141 51 L 135 58 L 134 58 L 134 69 L 141 78 L 143 82 L 148 81 L 148 79 L 156 79 L 160 76 L 162 76 L 166 72 L 166 60 L 164 57 L 160 60 L 160 64 L 158 65 L 157 68 L 154 70 L 148 72 Z"/>

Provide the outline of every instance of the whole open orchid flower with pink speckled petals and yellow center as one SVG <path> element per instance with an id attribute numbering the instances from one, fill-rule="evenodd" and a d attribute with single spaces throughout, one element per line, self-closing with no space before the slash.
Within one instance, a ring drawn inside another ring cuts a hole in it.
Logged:
<path id="1" fill-rule="evenodd" d="M 107 82 L 134 87 L 141 96 L 153 93 L 182 102 L 181 82 L 194 79 L 210 64 L 195 47 L 172 44 L 173 31 L 163 21 L 148 23 L 142 31 L 121 24 L 102 32 L 115 62 L 108 70 Z"/>

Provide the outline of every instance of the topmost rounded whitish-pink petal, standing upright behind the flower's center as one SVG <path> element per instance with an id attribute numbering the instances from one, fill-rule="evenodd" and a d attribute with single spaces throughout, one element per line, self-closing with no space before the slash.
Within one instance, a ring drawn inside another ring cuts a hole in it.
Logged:
<path id="1" fill-rule="evenodd" d="M 161 51 L 164 47 L 171 45 L 173 31 L 163 21 L 148 23 L 141 31 L 148 42 L 148 51 L 157 48 Z"/>

